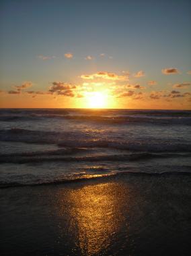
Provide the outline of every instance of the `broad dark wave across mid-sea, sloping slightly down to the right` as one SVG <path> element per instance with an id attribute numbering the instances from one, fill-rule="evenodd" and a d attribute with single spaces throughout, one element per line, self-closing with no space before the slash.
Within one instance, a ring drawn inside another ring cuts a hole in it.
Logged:
<path id="1" fill-rule="evenodd" d="M 107 135 L 107 134 L 106 134 Z M 101 136 L 101 135 L 100 135 Z M 100 139 L 93 138 L 91 133 L 71 130 L 70 132 L 50 132 L 42 130 L 27 130 L 20 128 L 11 128 L 9 130 L 0 130 L 0 140 L 20 143 L 36 144 L 56 144 L 63 148 L 104 148 L 118 149 L 122 151 L 147 151 L 153 153 L 159 152 L 191 152 L 191 145 L 186 141 L 179 140 L 155 140 L 153 142 L 145 139 L 133 140 L 132 138 Z M 103 136 L 103 134 L 102 134 Z"/>

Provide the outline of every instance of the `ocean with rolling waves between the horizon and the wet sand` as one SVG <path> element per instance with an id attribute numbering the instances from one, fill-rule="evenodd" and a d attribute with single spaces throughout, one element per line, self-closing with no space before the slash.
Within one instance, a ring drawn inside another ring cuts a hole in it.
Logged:
<path id="1" fill-rule="evenodd" d="M 1 109 L 0 185 L 190 172 L 191 111 Z"/>

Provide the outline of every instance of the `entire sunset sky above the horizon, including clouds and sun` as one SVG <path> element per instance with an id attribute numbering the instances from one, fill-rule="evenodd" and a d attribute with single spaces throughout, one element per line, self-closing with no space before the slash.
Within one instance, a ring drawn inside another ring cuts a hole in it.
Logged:
<path id="1" fill-rule="evenodd" d="M 0 34 L 0 107 L 191 109 L 188 0 L 1 0 Z"/>

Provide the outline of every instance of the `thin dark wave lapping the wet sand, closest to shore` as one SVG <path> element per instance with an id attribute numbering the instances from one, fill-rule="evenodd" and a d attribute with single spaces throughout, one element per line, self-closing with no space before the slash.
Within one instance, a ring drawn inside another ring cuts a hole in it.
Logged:
<path id="1" fill-rule="evenodd" d="M 76 182 L 86 182 L 93 180 L 113 180 L 116 178 L 123 177 L 132 177 L 132 178 L 171 178 L 171 177 L 188 177 L 191 178 L 191 172 L 120 172 L 115 174 L 102 174 L 96 176 L 86 176 L 82 178 L 75 179 L 62 179 L 62 180 L 52 180 L 47 182 L 38 182 L 38 183 L 20 183 L 20 182 L 0 182 L 0 188 L 11 188 L 17 186 L 50 186 L 50 185 L 61 185 L 67 183 L 76 183 Z"/>

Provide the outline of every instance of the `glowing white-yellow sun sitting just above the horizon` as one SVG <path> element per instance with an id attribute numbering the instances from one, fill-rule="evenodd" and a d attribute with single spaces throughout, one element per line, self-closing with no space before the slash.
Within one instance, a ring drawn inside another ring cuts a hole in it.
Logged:
<path id="1" fill-rule="evenodd" d="M 108 95 L 103 92 L 93 92 L 87 95 L 87 107 L 100 109 L 108 106 Z"/>

